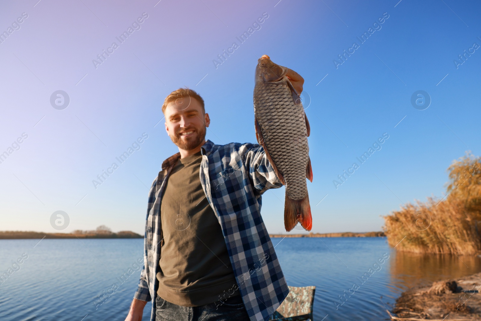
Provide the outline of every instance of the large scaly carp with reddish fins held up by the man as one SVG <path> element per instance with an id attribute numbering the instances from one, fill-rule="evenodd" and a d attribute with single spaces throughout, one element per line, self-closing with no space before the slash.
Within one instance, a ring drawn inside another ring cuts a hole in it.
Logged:
<path id="1" fill-rule="evenodd" d="M 264 147 L 278 179 L 286 186 L 284 226 L 311 231 L 306 178 L 312 182 L 307 137 L 309 122 L 301 99 L 286 76 L 288 69 L 263 55 L 255 68 L 254 116 L 257 142 Z"/>

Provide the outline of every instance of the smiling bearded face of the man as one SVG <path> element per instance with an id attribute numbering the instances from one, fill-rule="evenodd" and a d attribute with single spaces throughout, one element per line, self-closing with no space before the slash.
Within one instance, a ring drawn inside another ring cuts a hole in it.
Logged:
<path id="1" fill-rule="evenodd" d="M 165 130 L 180 149 L 189 151 L 203 144 L 209 124 L 209 114 L 194 98 L 179 98 L 165 107 Z"/>

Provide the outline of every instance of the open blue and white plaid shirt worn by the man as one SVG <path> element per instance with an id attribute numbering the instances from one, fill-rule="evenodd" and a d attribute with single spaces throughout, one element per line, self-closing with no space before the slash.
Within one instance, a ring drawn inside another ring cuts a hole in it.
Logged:
<path id="1" fill-rule="evenodd" d="M 262 194 L 279 188 L 264 149 L 258 144 L 215 145 L 201 148 L 200 180 L 224 234 L 230 263 L 251 321 L 268 320 L 289 293 L 278 258 L 261 217 Z M 155 320 L 156 274 L 164 244 L 160 205 L 169 174 L 180 153 L 167 158 L 149 192 L 144 237 L 144 267 L 136 299 L 152 301 Z M 230 293 L 232 294 L 232 293 Z"/>

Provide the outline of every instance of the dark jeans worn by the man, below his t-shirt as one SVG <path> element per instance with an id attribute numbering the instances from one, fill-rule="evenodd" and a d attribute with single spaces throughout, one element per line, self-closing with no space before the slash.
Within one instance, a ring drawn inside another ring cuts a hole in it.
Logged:
<path id="1" fill-rule="evenodd" d="M 182 307 L 157 295 L 156 321 L 249 321 L 241 295 L 231 296 L 199 307 Z"/>

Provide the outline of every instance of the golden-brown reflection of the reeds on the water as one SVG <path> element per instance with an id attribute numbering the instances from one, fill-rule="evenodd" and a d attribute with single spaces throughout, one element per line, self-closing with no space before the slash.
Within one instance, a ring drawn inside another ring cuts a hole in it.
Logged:
<path id="1" fill-rule="evenodd" d="M 432 282 L 443 279 L 456 279 L 480 271 L 480 257 L 392 251 L 390 274 L 395 292 L 402 292 L 418 285 L 431 285 Z"/>

